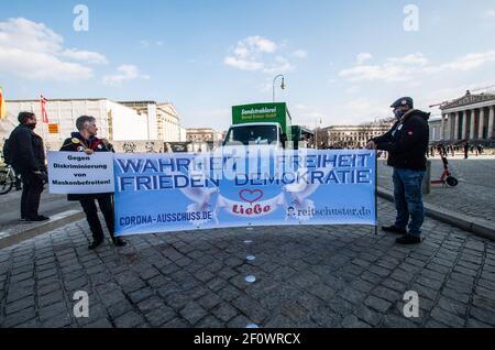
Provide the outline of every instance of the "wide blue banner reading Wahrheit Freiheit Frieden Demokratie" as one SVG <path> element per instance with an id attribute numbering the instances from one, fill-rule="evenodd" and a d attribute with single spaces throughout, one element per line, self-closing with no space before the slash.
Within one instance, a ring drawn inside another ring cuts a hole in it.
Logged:
<path id="1" fill-rule="evenodd" d="M 365 150 L 116 154 L 116 234 L 375 226 L 375 166 Z"/>

